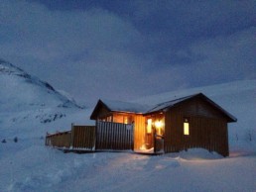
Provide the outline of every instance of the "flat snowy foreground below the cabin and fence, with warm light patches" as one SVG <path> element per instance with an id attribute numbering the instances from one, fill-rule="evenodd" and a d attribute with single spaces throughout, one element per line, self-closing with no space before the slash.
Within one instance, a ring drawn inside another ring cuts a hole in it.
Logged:
<path id="1" fill-rule="evenodd" d="M 64 153 L 39 138 L 0 144 L 0 191 L 255 191 L 255 151 L 149 156 Z"/>

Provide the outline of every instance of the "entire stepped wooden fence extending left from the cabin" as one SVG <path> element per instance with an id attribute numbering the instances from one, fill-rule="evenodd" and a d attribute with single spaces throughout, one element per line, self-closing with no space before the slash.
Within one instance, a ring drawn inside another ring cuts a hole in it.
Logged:
<path id="1" fill-rule="evenodd" d="M 95 126 L 72 126 L 71 131 L 47 135 L 46 145 L 70 150 L 133 149 L 133 126 L 98 121 Z"/>

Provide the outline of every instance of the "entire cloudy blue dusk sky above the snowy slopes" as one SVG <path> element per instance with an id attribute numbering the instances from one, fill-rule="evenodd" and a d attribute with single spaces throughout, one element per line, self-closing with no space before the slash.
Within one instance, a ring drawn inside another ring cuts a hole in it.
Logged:
<path id="1" fill-rule="evenodd" d="M 87 105 L 256 79 L 256 3 L 2 0 L 0 58 Z"/>

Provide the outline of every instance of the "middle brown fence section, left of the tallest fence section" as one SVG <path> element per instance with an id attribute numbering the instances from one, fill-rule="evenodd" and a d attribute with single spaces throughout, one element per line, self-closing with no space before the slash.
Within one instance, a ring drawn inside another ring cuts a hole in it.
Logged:
<path id="1" fill-rule="evenodd" d="M 95 126 L 72 126 L 71 148 L 74 150 L 94 150 L 95 130 Z"/>

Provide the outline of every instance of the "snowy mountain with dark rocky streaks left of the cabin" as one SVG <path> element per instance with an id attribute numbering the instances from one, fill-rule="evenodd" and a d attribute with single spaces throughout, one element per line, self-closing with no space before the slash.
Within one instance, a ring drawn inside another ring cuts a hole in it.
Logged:
<path id="1" fill-rule="evenodd" d="M 0 130 L 22 132 L 23 126 L 49 124 L 81 110 L 49 83 L 0 59 Z M 39 124 L 37 124 L 39 123 Z M 24 128 L 24 129 L 25 129 Z M 33 130 L 35 130 L 33 128 Z M 46 130 L 44 131 L 46 133 Z"/>

